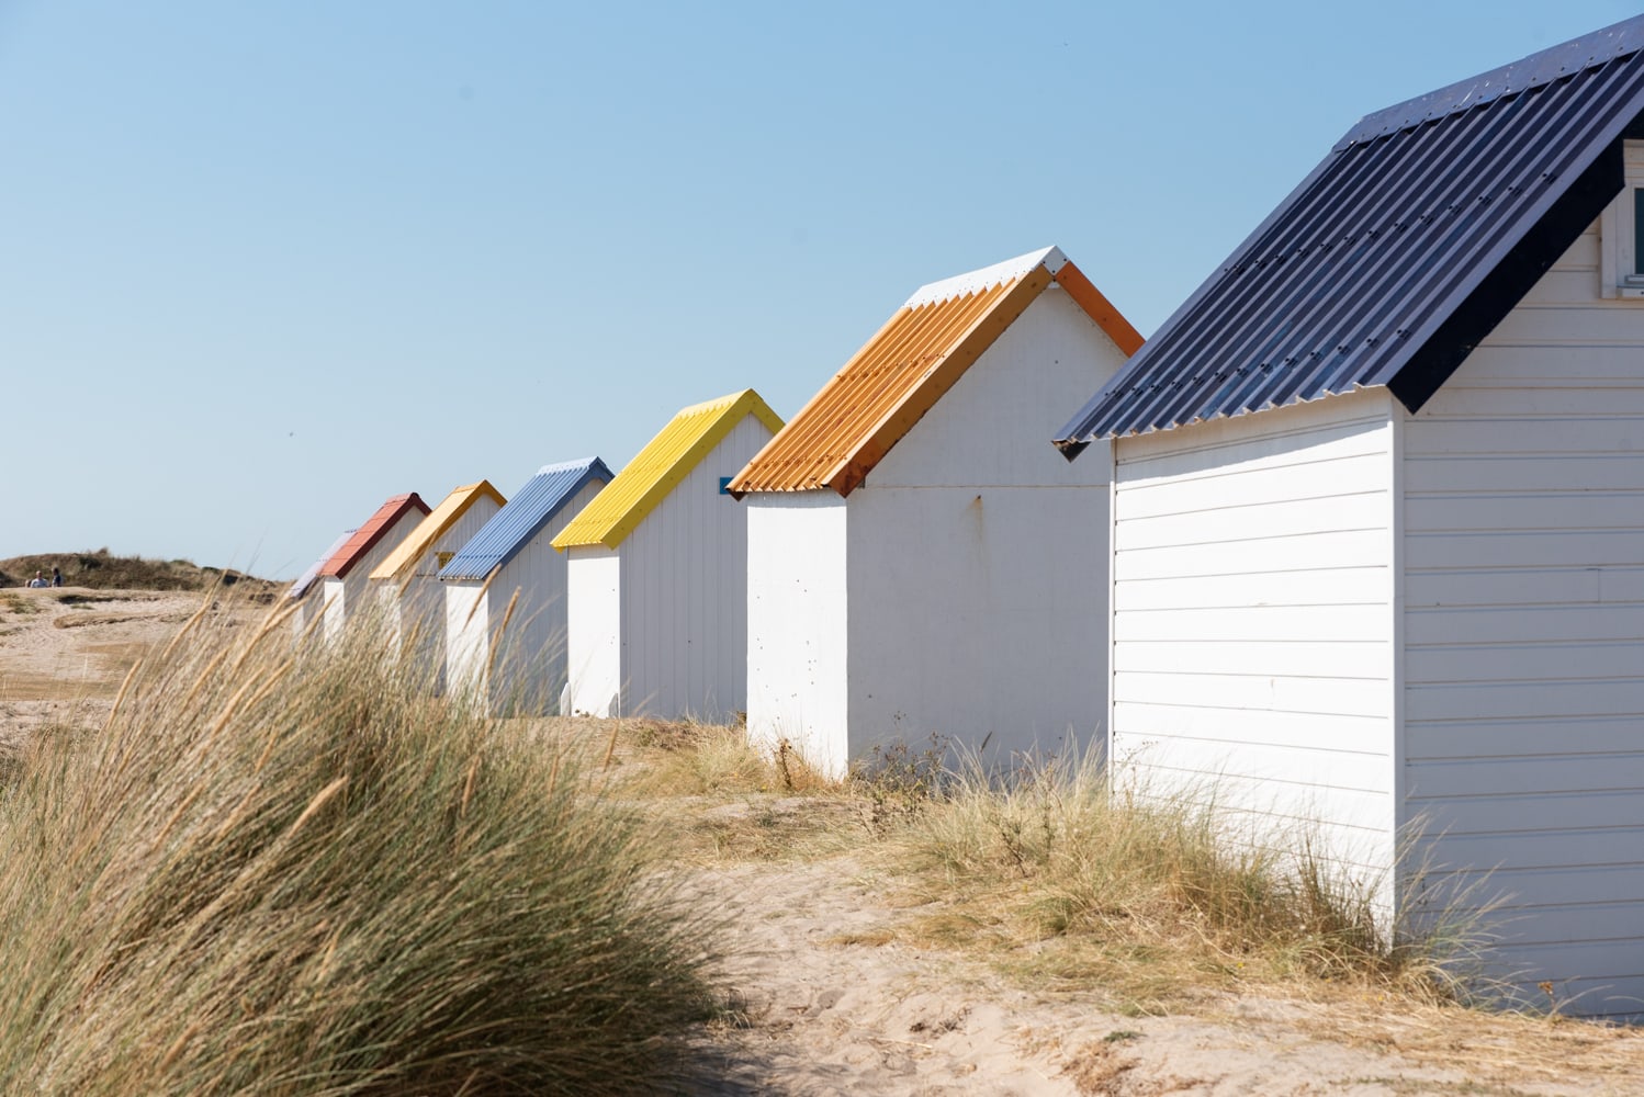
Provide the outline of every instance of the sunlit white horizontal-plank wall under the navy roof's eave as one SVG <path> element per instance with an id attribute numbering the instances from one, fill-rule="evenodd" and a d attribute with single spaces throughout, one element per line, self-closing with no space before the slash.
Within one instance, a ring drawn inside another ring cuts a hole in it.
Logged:
<path id="1" fill-rule="evenodd" d="M 1118 780 L 1317 828 L 1373 879 L 1396 842 L 1394 435 L 1361 392 L 1115 447 Z"/>

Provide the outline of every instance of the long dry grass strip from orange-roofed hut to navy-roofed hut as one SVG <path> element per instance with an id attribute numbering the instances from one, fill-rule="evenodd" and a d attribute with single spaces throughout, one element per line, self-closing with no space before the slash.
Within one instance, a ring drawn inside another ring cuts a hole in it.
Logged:
<path id="1" fill-rule="evenodd" d="M 853 851 L 894 879 L 909 913 L 843 944 L 960 949 L 1023 985 L 1100 987 L 1138 1013 L 1254 985 L 1434 1005 L 1503 990 L 1476 979 L 1489 939 L 1480 895 L 1384 925 L 1383 882 L 1345 872 L 1307 828 L 1254 841 L 1213 790 L 1115 792 L 1097 752 L 1008 770 L 960 755 L 950 769 L 942 742 L 893 742 L 840 785 L 786 750 L 760 757 L 737 729 L 631 721 L 630 741 L 653 750 L 625 788 L 654 810 L 669 795 L 746 803 L 681 828 L 699 856 Z"/>

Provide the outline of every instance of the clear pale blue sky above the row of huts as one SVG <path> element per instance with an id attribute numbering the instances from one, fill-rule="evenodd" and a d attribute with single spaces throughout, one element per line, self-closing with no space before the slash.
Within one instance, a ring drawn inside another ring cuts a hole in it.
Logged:
<path id="1" fill-rule="evenodd" d="M 289 578 L 391 494 L 791 415 L 1052 243 L 1148 335 L 1361 115 L 1631 15 L 0 0 L 0 557 Z"/>

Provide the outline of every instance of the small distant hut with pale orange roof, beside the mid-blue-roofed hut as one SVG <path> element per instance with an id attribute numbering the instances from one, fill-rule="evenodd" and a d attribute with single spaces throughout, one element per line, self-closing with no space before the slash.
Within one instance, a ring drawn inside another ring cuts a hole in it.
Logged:
<path id="1" fill-rule="evenodd" d="M 372 586 L 376 588 L 390 634 L 439 672 L 446 665 L 446 596 L 439 570 L 503 503 L 506 499 L 488 480 L 454 488 L 372 568 Z"/>

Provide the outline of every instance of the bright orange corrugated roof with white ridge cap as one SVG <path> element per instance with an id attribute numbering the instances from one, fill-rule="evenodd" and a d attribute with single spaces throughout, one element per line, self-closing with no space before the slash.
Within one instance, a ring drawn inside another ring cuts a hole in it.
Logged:
<path id="1" fill-rule="evenodd" d="M 730 483 L 848 496 L 1049 286 L 1067 291 L 1126 355 L 1141 335 L 1059 248 L 921 287 Z"/>

